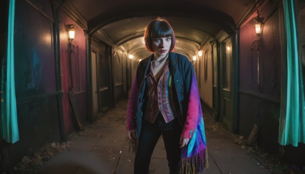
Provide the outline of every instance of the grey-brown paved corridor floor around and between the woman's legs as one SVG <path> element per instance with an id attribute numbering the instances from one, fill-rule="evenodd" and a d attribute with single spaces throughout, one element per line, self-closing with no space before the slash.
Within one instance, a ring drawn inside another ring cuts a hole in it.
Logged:
<path id="1" fill-rule="evenodd" d="M 133 173 L 134 154 L 128 152 L 126 133 L 127 100 L 85 126 L 73 144 L 47 161 L 39 173 Z M 209 169 L 204 173 L 270 173 L 260 162 L 241 150 L 221 123 L 204 116 Z M 150 164 L 150 174 L 169 173 L 160 138 Z"/>

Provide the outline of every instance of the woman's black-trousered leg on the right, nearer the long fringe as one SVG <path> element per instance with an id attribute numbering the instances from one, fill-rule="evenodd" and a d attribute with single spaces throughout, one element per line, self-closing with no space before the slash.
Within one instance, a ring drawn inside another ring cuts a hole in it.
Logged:
<path id="1" fill-rule="evenodd" d="M 177 119 L 173 120 L 172 130 L 162 131 L 170 174 L 178 174 L 180 172 L 180 135 L 181 129 Z"/>

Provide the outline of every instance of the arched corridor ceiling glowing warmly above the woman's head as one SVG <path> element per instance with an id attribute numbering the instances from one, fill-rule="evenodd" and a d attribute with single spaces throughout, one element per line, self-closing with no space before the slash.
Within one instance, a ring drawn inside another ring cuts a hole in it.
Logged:
<path id="1" fill-rule="evenodd" d="M 102 36 L 123 51 L 143 58 L 149 55 L 143 43 L 145 27 L 158 16 L 172 25 L 176 52 L 191 58 L 221 30 L 229 34 L 263 0 L 66 0 L 65 7 L 85 23 L 88 33 Z"/>

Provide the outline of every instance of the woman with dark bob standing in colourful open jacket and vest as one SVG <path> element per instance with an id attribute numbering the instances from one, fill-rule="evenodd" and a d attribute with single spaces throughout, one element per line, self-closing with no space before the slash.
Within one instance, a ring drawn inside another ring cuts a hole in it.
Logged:
<path id="1" fill-rule="evenodd" d="M 144 40 L 153 54 L 137 67 L 127 110 L 134 173 L 149 173 L 161 134 L 170 173 L 203 171 L 207 150 L 194 67 L 186 56 L 172 52 L 175 35 L 166 20 L 150 22 Z"/>

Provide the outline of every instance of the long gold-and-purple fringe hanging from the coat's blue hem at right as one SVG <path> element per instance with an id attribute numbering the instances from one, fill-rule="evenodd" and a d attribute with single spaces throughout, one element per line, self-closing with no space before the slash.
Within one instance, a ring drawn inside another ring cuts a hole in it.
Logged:
<path id="1" fill-rule="evenodd" d="M 196 174 L 208 169 L 207 149 L 189 158 L 181 158 L 181 173 Z"/>

